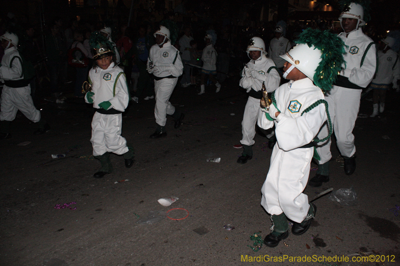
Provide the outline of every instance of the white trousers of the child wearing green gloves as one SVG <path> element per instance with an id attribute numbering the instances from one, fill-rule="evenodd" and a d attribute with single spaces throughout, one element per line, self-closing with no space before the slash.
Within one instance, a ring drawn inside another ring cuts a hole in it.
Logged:
<path id="1" fill-rule="evenodd" d="M 93 156 L 105 152 L 122 155 L 128 151 L 125 138 L 121 137 L 122 114 L 100 114 L 95 112 L 91 120 L 91 145 Z"/>

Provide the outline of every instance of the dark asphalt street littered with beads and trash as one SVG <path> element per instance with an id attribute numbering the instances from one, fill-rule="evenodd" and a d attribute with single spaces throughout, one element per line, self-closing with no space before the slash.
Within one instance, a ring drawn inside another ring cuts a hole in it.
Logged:
<path id="1" fill-rule="evenodd" d="M 91 157 L 89 105 L 39 101 L 51 126 L 39 136 L 18 113 L 12 138 L 0 141 L 0 265 L 400 265 L 399 93 L 388 93 L 379 117 L 370 118 L 371 101 L 361 101 L 354 174 L 344 174 L 333 139 L 330 181 L 304 190 L 313 199 L 329 188 L 351 188 L 353 206 L 320 197 L 304 235 L 254 252 L 250 236 L 270 232 L 260 189 L 271 150 L 257 134 L 252 160 L 236 163 L 242 150 L 233 146 L 240 144 L 247 100 L 237 84 L 231 77 L 220 92 L 206 87 L 203 95 L 177 87 L 170 102 L 185 118 L 174 129 L 168 117 L 161 139 L 149 138 L 154 100 L 131 102 L 122 136 L 134 145 L 134 165 L 126 169 L 113 154 L 114 171 L 101 179 L 92 177 L 100 164 Z M 53 159 L 56 154 L 65 156 Z M 157 202 L 170 196 L 178 200 L 168 207 Z"/>

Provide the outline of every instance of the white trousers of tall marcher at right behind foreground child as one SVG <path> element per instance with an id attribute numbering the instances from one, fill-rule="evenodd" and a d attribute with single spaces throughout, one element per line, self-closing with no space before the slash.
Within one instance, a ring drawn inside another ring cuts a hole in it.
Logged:
<path id="1" fill-rule="evenodd" d="M 328 103 L 330 120 L 332 121 L 336 145 L 340 154 L 351 157 L 355 153 L 354 135 L 352 134 L 355 120 L 357 119 L 361 90 L 348 89 L 338 86 L 326 93 L 325 100 Z M 323 139 L 328 135 L 327 121 L 322 126 L 317 137 Z M 332 158 L 330 153 L 330 138 L 322 143 L 318 143 L 316 151 L 321 160 L 319 164 L 324 164 Z"/>

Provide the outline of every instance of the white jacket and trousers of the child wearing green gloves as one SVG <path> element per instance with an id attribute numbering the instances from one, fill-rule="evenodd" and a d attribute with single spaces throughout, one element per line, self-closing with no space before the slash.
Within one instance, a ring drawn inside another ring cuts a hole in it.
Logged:
<path id="1" fill-rule="evenodd" d="M 91 139 L 93 156 L 105 152 L 122 155 L 128 151 L 125 138 L 121 137 L 122 114 L 129 102 L 128 87 L 123 70 L 114 62 L 107 69 L 96 66 L 89 71 L 89 83 L 93 95 L 93 107 L 96 112 L 91 121 Z M 88 103 L 86 96 L 85 101 Z M 104 110 L 99 103 L 109 101 L 111 106 Z M 101 112 L 101 113 L 100 113 Z"/>

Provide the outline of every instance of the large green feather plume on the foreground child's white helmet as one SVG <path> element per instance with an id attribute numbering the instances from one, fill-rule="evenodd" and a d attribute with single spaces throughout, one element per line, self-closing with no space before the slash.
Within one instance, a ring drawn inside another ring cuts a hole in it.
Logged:
<path id="1" fill-rule="evenodd" d="M 307 44 L 308 47 L 313 45 L 315 49 L 321 51 L 321 61 L 315 69 L 313 79 L 315 85 L 323 92 L 330 90 L 340 73 L 341 65 L 345 64 L 344 42 L 328 30 L 320 31 L 312 28 L 305 29 L 295 42 Z"/>

